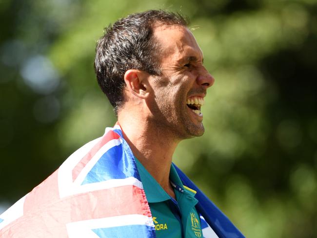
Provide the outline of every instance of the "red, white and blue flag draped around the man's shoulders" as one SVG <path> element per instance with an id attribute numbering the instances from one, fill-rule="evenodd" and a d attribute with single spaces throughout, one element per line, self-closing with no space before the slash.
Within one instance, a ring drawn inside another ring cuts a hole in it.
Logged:
<path id="1" fill-rule="evenodd" d="M 178 173 L 182 180 L 187 178 Z M 204 217 L 209 211 L 214 214 L 211 207 L 218 210 L 206 199 L 203 204 L 210 207 L 198 211 Z M 225 217 L 221 212 L 219 215 Z M 217 222 L 226 222 L 217 225 L 219 238 L 243 237 L 227 218 L 207 216 L 206 221 L 213 229 Z M 221 231 L 228 227 L 229 233 Z M 136 162 L 119 124 L 79 148 L 50 177 L 0 215 L 0 237 L 155 238 Z"/>

